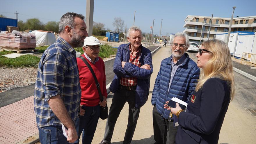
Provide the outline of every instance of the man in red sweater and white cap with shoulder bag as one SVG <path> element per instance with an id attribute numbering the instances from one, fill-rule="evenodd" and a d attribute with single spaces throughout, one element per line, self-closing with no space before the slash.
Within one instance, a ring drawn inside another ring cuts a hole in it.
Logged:
<path id="1" fill-rule="evenodd" d="M 86 37 L 83 45 L 84 54 L 82 56 L 88 61 L 97 77 L 103 95 L 102 102 L 100 101 L 92 73 L 82 59 L 77 58 L 81 86 L 80 118 L 76 123 L 78 139 L 75 143 L 77 144 L 79 143 L 82 131 L 83 144 L 92 142 L 100 116 L 100 106 L 106 106 L 107 102 L 105 65 L 102 58 L 99 57 L 99 45 L 101 44 L 97 38 L 93 36 Z"/>

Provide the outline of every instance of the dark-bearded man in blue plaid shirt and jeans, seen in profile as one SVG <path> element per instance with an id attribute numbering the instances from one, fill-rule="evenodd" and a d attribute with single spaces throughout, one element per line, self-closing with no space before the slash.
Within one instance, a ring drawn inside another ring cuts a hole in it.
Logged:
<path id="1" fill-rule="evenodd" d="M 77 140 L 74 122 L 81 100 L 76 51 L 88 36 L 84 16 L 66 13 L 59 23 L 59 37 L 43 53 L 35 83 L 34 110 L 42 144 Z M 67 138 L 61 123 L 67 127 Z"/>

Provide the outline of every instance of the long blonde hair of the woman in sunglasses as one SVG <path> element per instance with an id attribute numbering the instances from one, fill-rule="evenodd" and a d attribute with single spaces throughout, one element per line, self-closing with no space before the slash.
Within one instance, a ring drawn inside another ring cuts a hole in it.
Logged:
<path id="1" fill-rule="evenodd" d="M 204 65 L 203 70 L 200 73 L 200 81 L 198 82 L 195 90 L 200 90 L 208 79 L 217 77 L 228 82 L 230 86 L 230 99 L 232 100 L 235 88 L 233 66 L 229 48 L 225 42 L 216 39 L 204 41 L 202 46 L 204 49 L 211 51 L 209 52 L 210 59 Z"/>

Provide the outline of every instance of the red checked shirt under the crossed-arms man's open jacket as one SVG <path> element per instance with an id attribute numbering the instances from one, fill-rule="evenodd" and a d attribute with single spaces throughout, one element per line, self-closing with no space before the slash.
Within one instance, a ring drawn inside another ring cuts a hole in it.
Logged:
<path id="1" fill-rule="evenodd" d="M 141 63 L 139 62 L 139 58 L 141 56 L 141 47 L 137 52 L 135 52 L 134 56 L 131 53 L 131 45 L 130 45 L 130 60 L 129 63 L 132 63 L 138 67 L 141 67 Z M 121 77 L 120 84 L 123 86 L 136 86 L 137 78 L 135 77 Z"/>

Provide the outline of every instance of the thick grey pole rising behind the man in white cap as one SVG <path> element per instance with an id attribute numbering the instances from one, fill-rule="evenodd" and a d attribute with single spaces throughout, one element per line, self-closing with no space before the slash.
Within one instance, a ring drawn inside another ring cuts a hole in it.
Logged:
<path id="1" fill-rule="evenodd" d="M 88 36 L 93 35 L 93 9 L 94 0 L 86 0 L 86 26 Z"/>

